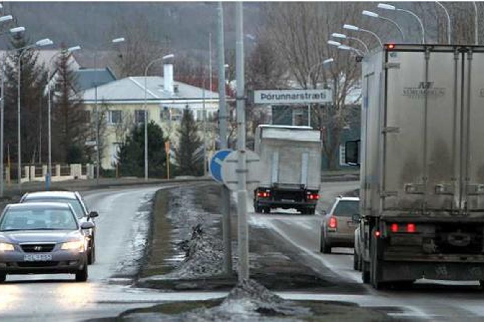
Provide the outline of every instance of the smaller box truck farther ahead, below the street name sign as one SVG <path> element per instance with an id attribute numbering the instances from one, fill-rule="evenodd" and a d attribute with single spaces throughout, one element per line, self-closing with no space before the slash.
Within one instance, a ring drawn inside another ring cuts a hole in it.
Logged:
<path id="1" fill-rule="evenodd" d="M 321 181 L 321 132 L 308 126 L 259 125 L 255 151 L 262 167 L 254 209 L 294 208 L 314 214 Z"/>

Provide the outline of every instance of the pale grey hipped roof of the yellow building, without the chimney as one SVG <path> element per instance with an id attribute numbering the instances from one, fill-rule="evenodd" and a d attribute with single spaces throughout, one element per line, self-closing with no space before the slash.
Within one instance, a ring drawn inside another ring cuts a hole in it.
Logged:
<path id="1" fill-rule="evenodd" d="M 110 102 L 116 101 L 143 101 L 145 98 L 145 77 L 133 76 L 122 78 L 97 88 L 98 100 Z M 205 99 L 218 98 L 218 93 L 191 86 L 185 83 L 173 82 L 177 88 L 174 93 L 169 93 L 164 89 L 164 79 L 160 76 L 146 77 L 146 98 L 148 101 L 161 100 L 201 100 L 205 94 Z M 94 88 L 87 89 L 84 92 L 83 100 L 85 102 L 94 101 Z"/>

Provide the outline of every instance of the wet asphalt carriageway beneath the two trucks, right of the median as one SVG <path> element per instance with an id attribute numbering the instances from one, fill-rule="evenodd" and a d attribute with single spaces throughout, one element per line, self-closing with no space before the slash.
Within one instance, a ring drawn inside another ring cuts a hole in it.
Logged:
<path id="1" fill-rule="evenodd" d="M 358 188 L 359 183 L 328 182 L 321 188 L 322 209 L 334 197 Z M 253 211 L 252 201 L 248 209 Z M 374 307 L 405 321 L 484 321 L 484 292 L 477 282 L 444 282 L 419 280 L 408 290 L 375 291 L 364 285 L 361 273 L 353 270 L 353 249 L 333 248 L 331 254 L 319 253 L 320 215 L 291 215 L 290 210 L 272 211 L 271 215 L 252 214 L 251 224 L 267 227 L 304 253 L 309 266 L 324 271 L 335 281 L 355 284 L 355 293 L 348 288 L 334 293 L 279 293 L 287 299 L 320 299 L 350 301 L 363 307 Z M 328 272 L 329 271 L 329 272 Z M 363 292 L 361 292 L 363 288 Z"/>

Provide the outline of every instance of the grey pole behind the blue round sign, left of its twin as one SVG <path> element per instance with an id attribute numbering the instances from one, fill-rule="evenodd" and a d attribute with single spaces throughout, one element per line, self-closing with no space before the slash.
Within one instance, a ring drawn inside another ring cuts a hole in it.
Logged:
<path id="1" fill-rule="evenodd" d="M 225 53 L 224 53 L 224 9 L 218 3 L 218 119 L 220 149 L 227 148 L 227 109 L 225 105 Z M 230 218 L 230 192 L 225 185 L 221 188 L 222 235 L 224 240 L 224 272 L 232 273 L 232 234 Z"/>

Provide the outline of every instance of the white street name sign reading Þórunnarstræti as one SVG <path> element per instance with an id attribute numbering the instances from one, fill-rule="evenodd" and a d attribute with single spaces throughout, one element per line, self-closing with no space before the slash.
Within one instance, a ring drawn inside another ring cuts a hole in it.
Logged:
<path id="1" fill-rule="evenodd" d="M 267 89 L 254 91 L 256 104 L 301 104 L 332 102 L 331 89 Z"/>

